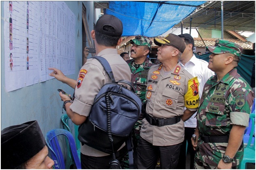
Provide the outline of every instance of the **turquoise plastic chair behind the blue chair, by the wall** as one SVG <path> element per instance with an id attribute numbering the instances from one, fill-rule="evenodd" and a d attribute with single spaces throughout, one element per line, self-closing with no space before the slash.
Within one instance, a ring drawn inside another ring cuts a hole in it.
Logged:
<path id="1" fill-rule="evenodd" d="M 63 129 L 66 129 L 67 131 L 69 131 L 70 133 L 72 133 L 70 126 L 68 125 L 68 120 L 70 120 L 70 118 L 68 117 L 67 114 L 64 114 L 61 116 L 61 121 L 62 121 L 62 126 Z M 76 147 L 77 147 L 77 154 L 80 159 L 80 141 L 78 140 L 78 128 L 79 126 L 77 126 L 76 124 L 72 123 L 74 126 L 74 131 L 75 131 L 75 143 L 76 143 Z"/>

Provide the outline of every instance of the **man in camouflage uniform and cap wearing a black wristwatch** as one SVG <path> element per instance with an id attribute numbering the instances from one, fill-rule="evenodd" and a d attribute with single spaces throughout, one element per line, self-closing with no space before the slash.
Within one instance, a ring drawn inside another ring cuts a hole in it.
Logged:
<path id="1" fill-rule="evenodd" d="M 235 68 L 241 57 L 240 46 L 217 40 L 208 49 L 213 53 L 208 68 L 216 75 L 205 83 L 198 108 L 196 142 L 192 140 L 195 168 L 235 169 L 243 158 L 243 134 L 254 93 Z"/>

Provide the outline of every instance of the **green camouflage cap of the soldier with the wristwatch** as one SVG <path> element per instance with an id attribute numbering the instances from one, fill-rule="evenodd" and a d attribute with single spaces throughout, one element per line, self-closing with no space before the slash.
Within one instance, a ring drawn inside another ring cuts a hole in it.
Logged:
<path id="1" fill-rule="evenodd" d="M 207 47 L 208 50 L 214 54 L 223 54 L 229 52 L 235 56 L 241 57 L 243 48 L 238 44 L 229 42 L 227 40 L 218 39 L 214 46 Z"/>

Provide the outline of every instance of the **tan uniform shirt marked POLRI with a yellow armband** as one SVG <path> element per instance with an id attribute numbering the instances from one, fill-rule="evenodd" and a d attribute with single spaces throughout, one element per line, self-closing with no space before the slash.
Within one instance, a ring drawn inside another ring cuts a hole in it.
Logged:
<path id="1" fill-rule="evenodd" d="M 173 118 L 188 110 L 196 111 L 199 104 L 197 78 L 177 64 L 174 70 L 164 75 L 162 65 L 151 66 L 147 81 L 146 112 L 154 118 Z M 184 122 L 172 125 L 154 126 L 144 118 L 141 137 L 157 146 L 169 146 L 184 140 Z"/>

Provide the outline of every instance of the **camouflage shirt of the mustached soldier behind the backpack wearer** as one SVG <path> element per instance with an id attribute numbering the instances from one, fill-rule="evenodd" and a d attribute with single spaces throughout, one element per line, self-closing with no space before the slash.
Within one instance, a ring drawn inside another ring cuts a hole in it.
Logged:
<path id="1" fill-rule="evenodd" d="M 130 67 L 132 73 L 132 85 L 135 88 L 137 95 L 141 98 L 141 101 L 144 103 L 146 101 L 146 88 L 147 88 L 147 73 L 149 68 L 154 65 L 148 58 L 145 59 L 143 64 L 139 68 L 135 68 L 134 60 L 126 61 Z"/>

